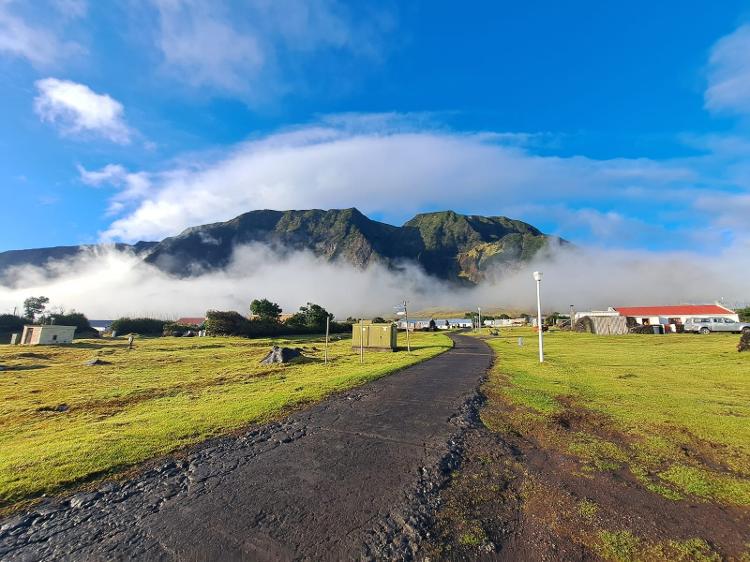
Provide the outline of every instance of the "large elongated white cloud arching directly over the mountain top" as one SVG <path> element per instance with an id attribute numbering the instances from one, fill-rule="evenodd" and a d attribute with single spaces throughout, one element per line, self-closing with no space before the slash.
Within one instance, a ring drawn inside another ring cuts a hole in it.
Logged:
<path id="1" fill-rule="evenodd" d="M 656 191 L 666 197 L 695 181 L 680 162 L 543 157 L 486 137 L 331 126 L 270 135 L 217 161 L 152 174 L 148 196 L 104 238 L 156 239 L 258 208 L 357 206 L 391 221 L 436 207 L 482 214 L 528 204 L 621 208 L 624 199 L 650 203 Z"/>

